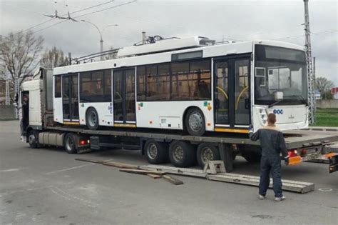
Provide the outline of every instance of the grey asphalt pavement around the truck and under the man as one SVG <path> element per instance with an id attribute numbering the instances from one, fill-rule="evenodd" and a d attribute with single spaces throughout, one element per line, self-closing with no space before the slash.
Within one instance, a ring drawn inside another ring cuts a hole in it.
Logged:
<path id="1" fill-rule="evenodd" d="M 315 184 L 308 194 L 257 198 L 257 188 L 185 176 L 183 185 L 74 159 L 62 149 L 30 149 L 17 121 L 0 122 L 0 224 L 338 224 L 338 172 L 327 164 L 283 166 L 282 177 Z M 147 164 L 139 151 L 81 154 Z M 259 174 L 241 157 L 235 173 Z M 324 190 L 324 191 L 320 191 Z"/>

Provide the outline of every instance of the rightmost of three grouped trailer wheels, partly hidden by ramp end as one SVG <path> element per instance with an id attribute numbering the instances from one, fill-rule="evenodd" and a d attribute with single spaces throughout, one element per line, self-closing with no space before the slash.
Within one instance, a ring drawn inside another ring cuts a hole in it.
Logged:
<path id="1" fill-rule="evenodd" d="M 198 165 L 204 168 L 204 165 L 208 161 L 220 160 L 220 151 L 216 146 L 213 146 L 212 144 L 202 143 L 198 146 L 196 156 L 198 160 Z"/>

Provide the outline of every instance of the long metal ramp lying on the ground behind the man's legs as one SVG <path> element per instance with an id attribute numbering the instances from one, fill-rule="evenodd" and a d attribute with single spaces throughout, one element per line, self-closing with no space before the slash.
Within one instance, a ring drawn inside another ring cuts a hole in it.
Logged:
<path id="1" fill-rule="evenodd" d="M 210 174 L 211 171 L 208 169 L 204 172 L 202 169 L 187 169 L 187 168 L 177 168 L 173 166 L 158 166 L 158 165 L 146 165 L 138 166 L 140 169 L 147 169 L 152 171 L 163 171 L 168 174 L 176 174 L 181 176 L 194 176 L 205 178 L 211 181 L 222 181 L 233 184 L 245 184 L 250 186 L 258 186 L 260 184 L 259 176 L 249 176 L 243 174 L 232 174 L 232 173 L 217 173 Z M 292 191 L 297 193 L 307 193 L 314 190 L 313 183 L 301 182 L 301 181 L 291 181 L 282 179 L 282 189 L 284 191 Z M 272 179 L 270 179 L 270 188 L 272 188 Z"/>

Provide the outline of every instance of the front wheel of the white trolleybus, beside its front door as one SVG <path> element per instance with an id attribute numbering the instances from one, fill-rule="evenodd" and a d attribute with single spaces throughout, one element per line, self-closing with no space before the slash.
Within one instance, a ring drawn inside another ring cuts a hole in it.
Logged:
<path id="1" fill-rule="evenodd" d="M 185 128 L 192 136 L 203 136 L 205 133 L 205 119 L 200 109 L 196 107 L 188 109 L 185 116 Z"/>

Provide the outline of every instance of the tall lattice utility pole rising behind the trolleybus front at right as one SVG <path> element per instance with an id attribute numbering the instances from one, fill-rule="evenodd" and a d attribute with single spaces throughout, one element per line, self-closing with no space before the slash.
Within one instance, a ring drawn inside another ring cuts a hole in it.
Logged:
<path id="1" fill-rule="evenodd" d="M 307 101 L 309 103 L 309 124 L 314 124 L 316 121 L 316 103 L 314 101 L 314 74 L 312 71 L 312 51 L 311 38 L 309 30 L 309 0 L 304 1 L 304 26 L 305 26 L 305 54 L 307 58 Z"/>

